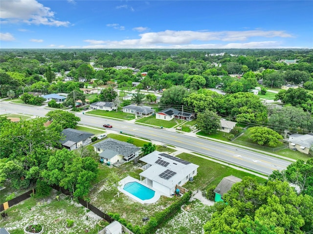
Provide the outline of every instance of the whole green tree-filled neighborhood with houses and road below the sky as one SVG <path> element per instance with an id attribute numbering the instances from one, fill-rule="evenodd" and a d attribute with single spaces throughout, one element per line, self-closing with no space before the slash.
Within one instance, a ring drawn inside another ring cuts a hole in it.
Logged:
<path id="1" fill-rule="evenodd" d="M 0 56 L 0 234 L 313 232 L 312 49 Z"/>

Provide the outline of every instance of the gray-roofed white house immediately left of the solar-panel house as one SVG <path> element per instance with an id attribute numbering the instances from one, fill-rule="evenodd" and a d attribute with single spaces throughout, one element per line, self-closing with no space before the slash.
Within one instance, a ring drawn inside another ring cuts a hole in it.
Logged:
<path id="1" fill-rule="evenodd" d="M 129 162 L 138 157 L 140 153 L 139 147 L 112 138 L 108 138 L 94 144 L 93 149 L 99 153 L 101 162 L 110 162 L 110 164 L 117 163 L 122 159 L 126 162 Z"/>

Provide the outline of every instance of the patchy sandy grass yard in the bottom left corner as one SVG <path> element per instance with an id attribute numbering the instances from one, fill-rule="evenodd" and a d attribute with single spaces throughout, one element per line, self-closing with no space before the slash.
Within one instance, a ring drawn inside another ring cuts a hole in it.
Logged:
<path id="1" fill-rule="evenodd" d="M 31 223 L 44 226 L 44 233 L 88 233 L 97 234 L 102 228 L 97 224 L 102 218 L 78 203 L 70 202 L 64 194 L 60 194 L 59 201 L 55 199 L 57 191 L 51 191 L 45 200 L 28 198 L 10 207 L 6 212 L 7 219 L 0 220 L 0 227 L 6 228 L 10 234 L 23 234 L 23 228 Z M 88 218 L 87 218 L 88 216 Z M 66 228 L 66 220 L 71 219 L 74 225 Z"/>

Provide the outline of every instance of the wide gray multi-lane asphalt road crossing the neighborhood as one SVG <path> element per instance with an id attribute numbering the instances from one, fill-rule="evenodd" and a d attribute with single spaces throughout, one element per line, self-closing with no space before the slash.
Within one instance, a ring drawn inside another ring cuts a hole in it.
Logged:
<path id="1" fill-rule="evenodd" d="M 25 106 L 0 102 L 0 114 L 4 113 L 24 113 L 36 116 L 45 116 L 49 109 L 43 107 Z M 268 156 L 262 153 L 254 152 L 248 149 L 242 149 L 236 146 L 210 141 L 188 134 L 178 133 L 169 129 L 160 129 L 146 127 L 129 123 L 127 121 L 118 121 L 96 116 L 76 113 L 81 118 L 79 124 L 103 128 L 105 123 L 112 124 L 117 132 L 123 131 L 138 137 L 162 142 L 163 144 L 173 145 L 179 148 L 188 149 L 192 152 L 237 165 L 249 170 L 257 171 L 265 175 L 270 175 L 273 170 L 283 170 L 291 162 Z"/>

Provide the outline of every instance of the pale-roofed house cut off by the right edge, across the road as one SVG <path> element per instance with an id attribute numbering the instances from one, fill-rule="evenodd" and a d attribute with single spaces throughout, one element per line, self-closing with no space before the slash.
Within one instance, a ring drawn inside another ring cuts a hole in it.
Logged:
<path id="1" fill-rule="evenodd" d="M 309 154 L 310 147 L 313 146 L 313 133 L 301 135 L 292 134 L 289 136 L 289 148 Z"/>

